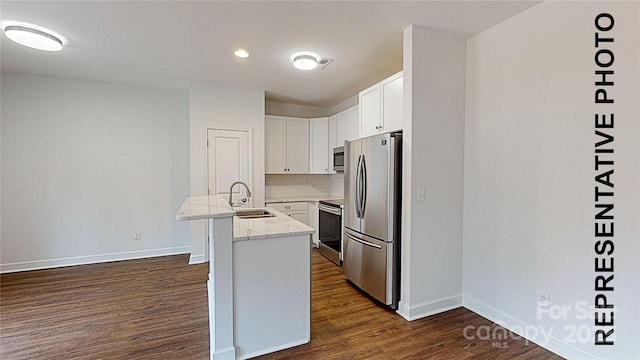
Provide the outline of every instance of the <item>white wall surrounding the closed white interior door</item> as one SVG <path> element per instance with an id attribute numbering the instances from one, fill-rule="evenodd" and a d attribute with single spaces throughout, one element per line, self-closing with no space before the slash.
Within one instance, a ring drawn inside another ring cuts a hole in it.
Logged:
<path id="1" fill-rule="evenodd" d="M 192 82 L 189 89 L 191 196 L 207 193 L 207 129 L 252 130 L 253 205 L 264 206 L 264 91 Z M 207 260 L 206 221 L 190 221 L 191 262 Z"/>

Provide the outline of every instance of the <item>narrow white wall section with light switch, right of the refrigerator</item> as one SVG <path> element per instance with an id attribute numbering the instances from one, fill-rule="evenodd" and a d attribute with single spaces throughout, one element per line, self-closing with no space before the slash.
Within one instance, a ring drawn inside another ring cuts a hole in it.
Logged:
<path id="1" fill-rule="evenodd" d="M 407 319 L 462 303 L 465 46 L 464 39 L 415 25 L 404 31 L 398 312 Z"/>

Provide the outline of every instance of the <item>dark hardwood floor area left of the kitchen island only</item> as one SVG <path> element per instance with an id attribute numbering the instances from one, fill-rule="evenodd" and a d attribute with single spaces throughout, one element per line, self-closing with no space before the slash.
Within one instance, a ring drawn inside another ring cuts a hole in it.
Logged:
<path id="1" fill-rule="evenodd" d="M 0 359 L 208 359 L 208 264 L 188 255 L 0 277 Z"/>

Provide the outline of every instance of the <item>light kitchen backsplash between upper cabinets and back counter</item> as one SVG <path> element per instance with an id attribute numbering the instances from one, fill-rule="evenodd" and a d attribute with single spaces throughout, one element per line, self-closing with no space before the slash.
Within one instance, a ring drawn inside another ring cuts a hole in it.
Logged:
<path id="1" fill-rule="evenodd" d="M 341 198 L 344 176 L 335 175 L 266 175 L 266 199 Z"/>

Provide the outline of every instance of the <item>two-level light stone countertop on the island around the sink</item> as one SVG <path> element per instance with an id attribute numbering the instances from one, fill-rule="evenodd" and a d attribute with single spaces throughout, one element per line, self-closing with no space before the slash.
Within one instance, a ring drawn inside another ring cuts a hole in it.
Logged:
<path id="1" fill-rule="evenodd" d="M 239 219 L 222 195 L 190 196 L 176 214 L 176 220 L 201 220 L 233 216 L 233 240 L 255 240 L 313 234 L 315 230 L 277 210 L 267 209 L 274 217 Z"/>

